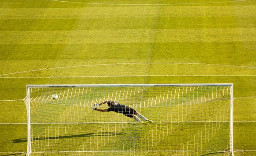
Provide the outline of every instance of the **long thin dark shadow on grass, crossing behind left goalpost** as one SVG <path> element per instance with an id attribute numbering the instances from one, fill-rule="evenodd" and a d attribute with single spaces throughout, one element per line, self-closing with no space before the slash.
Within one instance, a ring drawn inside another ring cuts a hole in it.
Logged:
<path id="1" fill-rule="evenodd" d="M 70 136 L 49 136 L 49 137 L 42 137 L 38 138 L 35 137 L 33 140 L 46 140 L 46 139 L 68 139 L 68 138 L 76 138 L 76 137 L 95 137 L 95 136 L 116 136 L 116 135 L 121 135 L 124 133 L 113 133 L 113 132 L 100 132 L 100 133 L 85 133 L 85 134 L 79 134 L 79 135 L 70 135 Z M 20 143 L 20 142 L 27 142 L 27 138 L 22 138 L 22 139 L 14 139 L 12 140 L 13 143 Z"/>

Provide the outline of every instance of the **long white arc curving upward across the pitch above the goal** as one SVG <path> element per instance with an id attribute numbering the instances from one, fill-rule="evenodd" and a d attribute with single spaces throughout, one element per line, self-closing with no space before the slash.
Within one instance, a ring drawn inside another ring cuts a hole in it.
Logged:
<path id="1" fill-rule="evenodd" d="M 141 63 L 108 63 L 108 64 L 93 64 L 93 65 L 73 65 L 73 66 L 56 67 L 56 68 L 35 69 L 35 70 L 30 70 L 30 71 L 20 71 L 20 72 L 15 72 L 15 73 L 1 74 L 0 76 L 11 75 L 11 74 L 20 74 L 20 73 L 26 73 L 26 72 L 32 72 L 32 71 L 60 69 L 60 68 L 74 68 L 74 67 L 87 67 L 87 66 L 100 66 L 100 65 L 140 65 L 140 64 L 217 65 L 217 66 L 256 69 L 256 67 L 239 66 L 239 65 L 218 65 L 218 64 L 206 64 L 206 63 L 141 62 Z M 4 78 L 4 77 L 1 77 L 1 78 Z"/>

